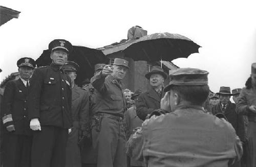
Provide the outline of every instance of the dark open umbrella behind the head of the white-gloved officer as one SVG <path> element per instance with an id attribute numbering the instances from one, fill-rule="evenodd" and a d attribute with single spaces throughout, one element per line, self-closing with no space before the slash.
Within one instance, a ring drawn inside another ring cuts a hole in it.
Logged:
<path id="1" fill-rule="evenodd" d="M 50 65 L 52 62 L 50 54 L 51 52 L 49 50 L 44 50 L 41 56 L 36 60 L 37 67 Z M 69 60 L 76 62 L 80 66 L 75 80 L 76 84 L 79 86 L 81 86 L 82 81 L 85 79 L 93 77 L 95 64 L 109 63 L 109 58 L 107 58 L 102 51 L 84 46 L 73 46 Z"/>

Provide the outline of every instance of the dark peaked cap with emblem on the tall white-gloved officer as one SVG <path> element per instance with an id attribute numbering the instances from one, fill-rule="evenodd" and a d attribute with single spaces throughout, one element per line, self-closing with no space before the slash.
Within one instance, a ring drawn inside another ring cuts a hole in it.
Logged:
<path id="1" fill-rule="evenodd" d="M 54 39 L 49 43 L 48 48 L 51 52 L 54 50 L 63 50 L 67 53 L 70 53 L 73 49 L 73 46 L 69 41 L 65 39 Z"/>

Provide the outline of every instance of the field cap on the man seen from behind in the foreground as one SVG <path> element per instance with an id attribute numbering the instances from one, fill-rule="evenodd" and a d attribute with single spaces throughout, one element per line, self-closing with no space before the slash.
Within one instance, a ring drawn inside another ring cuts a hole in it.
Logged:
<path id="1" fill-rule="evenodd" d="M 174 70 L 170 75 L 170 83 L 164 88 L 169 91 L 172 85 L 180 86 L 197 86 L 208 85 L 208 71 L 197 68 L 179 68 Z"/>

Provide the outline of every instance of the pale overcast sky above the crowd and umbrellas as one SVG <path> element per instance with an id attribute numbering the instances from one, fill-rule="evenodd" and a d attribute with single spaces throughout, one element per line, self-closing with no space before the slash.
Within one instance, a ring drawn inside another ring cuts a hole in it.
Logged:
<path id="1" fill-rule="evenodd" d="M 92 48 L 127 38 L 139 25 L 148 34 L 184 35 L 202 47 L 199 54 L 173 62 L 209 71 L 209 86 L 243 87 L 256 62 L 256 10 L 253 1 L 10 1 L 20 11 L 0 27 L 0 81 L 17 71 L 21 57 L 37 59 L 56 38 Z"/>

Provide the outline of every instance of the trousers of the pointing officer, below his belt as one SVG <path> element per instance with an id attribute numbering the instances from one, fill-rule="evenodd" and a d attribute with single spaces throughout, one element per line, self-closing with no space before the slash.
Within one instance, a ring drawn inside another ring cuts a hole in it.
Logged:
<path id="1" fill-rule="evenodd" d="M 92 125 L 92 150 L 84 148 L 83 156 L 85 159 L 82 159 L 82 166 L 96 165 L 92 164 L 93 161 L 86 160 L 87 155 L 94 154 L 97 167 L 126 167 L 126 139 L 123 122 L 103 117 L 99 125 L 94 122 Z"/>

